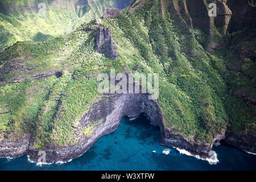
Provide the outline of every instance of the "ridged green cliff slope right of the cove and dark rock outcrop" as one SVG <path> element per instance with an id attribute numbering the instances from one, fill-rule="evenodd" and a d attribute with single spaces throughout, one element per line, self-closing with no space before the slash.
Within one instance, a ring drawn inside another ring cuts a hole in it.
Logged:
<path id="1" fill-rule="evenodd" d="M 179 17 L 162 17 L 158 1 L 151 1 L 135 14 L 105 20 L 118 47 L 119 61 L 130 71 L 160 75 L 159 104 L 167 127 L 186 138 L 212 142 L 225 129 L 228 115 L 224 99 L 228 89 L 213 69 L 220 60 L 209 55 Z"/>

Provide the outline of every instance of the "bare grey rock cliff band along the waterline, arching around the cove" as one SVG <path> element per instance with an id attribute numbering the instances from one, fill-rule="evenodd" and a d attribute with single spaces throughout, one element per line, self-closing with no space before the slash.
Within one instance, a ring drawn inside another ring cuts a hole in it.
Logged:
<path id="1" fill-rule="evenodd" d="M 82 127 L 90 123 L 103 119 L 103 121 L 96 126 L 91 137 L 77 133 L 79 142 L 73 146 L 55 146 L 47 144 L 43 148 L 35 148 L 34 140 L 30 135 L 26 135 L 21 140 L 3 139 L 0 142 L 0 156 L 2 157 L 16 157 L 21 155 L 28 155 L 31 161 L 38 162 L 39 151 L 46 152 L 46 162 L 68 162 L 71 159 L 77 158 L 84 154 L 100 137 L 112 133 L 117 130 L 121 119 L 129 117 L 134 119 L 141 114 L 146 115 L 150 124 L 160 128 L 161 138 L 160 143 L 166 146 L 182 148 L 191 152 L 193 155 L 199 155 L 200 158 L 206 159 L 209 157 L 209 152 L 213 144 L 200 143 L 196 141 L 189 141 L 181 134 L 173 134 L 172 129 L 164 126 L 163 113 L 158 103 L 154 100 L 148 100 L 147 94 L 113 94 L 105 95 L 100 101 L 92 104 L 89 111 L 81 117 L 80 124 L 76 130 L 81 130 Z M 245 147 L 241 141 L 240 146 L 229 142 L 230 137 L 225 137 L 225 131 L 216 136 L 214 144 L 218 144 L 221 140 L 227 140 L 228 143 L 241 148 L 243 151 L 255 153 L 255 148 Z"/>

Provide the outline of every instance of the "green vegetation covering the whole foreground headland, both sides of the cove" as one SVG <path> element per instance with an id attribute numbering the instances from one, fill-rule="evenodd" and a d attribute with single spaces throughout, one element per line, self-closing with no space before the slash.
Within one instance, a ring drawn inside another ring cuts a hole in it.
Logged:
<path id="1" fill-rule="evenodd" d="M 121 16 L 103 20 L 112 30 L 119 52 L 117 61 L 94 52 L 90 31 L 76 31 L 43 43 L 18 43 L 6 49 L 0 60 L 22 55 L 26 65 L 35 66 L 30 75 L 51 69 L 64 74 L 1 86 L 0 113 L 5 114 L 0 114 L 0 136 L 34 133 L 38 148 L 48 142 L 61 146 L 76 143 L 74 126 L 89 103 L 100 97 L 96 78 L 85 75 L 109 72 L 110 68 L 126 72 L 135 67 L 136 72 L 159 73 L 158 102 L 166 127 L 175 133 L 212 142 L 228 123 L 232 129 L 250 126 L 255 132 L 250 109 L 232 96 L 222 79 L 230 76 L 224 61 L 204 51 L 187 34 L 187 27 L 180 26 L 179 17 L 166 12 L 162 18 L 159 10 L 157 2 L 147 2 L 134 15 L 124 11 Z M 89 26 L 94 25 L 84 25 L 81 30 Z M 34 58 L 30 60 L 30 56 Z"/>

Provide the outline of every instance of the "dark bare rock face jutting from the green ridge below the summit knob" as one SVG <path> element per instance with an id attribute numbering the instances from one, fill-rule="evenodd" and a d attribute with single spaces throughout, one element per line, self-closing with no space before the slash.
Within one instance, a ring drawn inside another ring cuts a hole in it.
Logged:
<path id="1" fill-rule="evenodd" d="M 117 48 L 115 47 L 114 40 L 108 27 L 98 27 L 96 36 L 96 51 L 104 54 L 111 60 L 118 59 Z"/>

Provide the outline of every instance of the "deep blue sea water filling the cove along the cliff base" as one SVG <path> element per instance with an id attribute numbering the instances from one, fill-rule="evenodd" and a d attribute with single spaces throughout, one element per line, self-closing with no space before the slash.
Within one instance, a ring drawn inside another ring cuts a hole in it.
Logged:
<path id="1" fill-rule="evenodd" d="M 145 117 L 134 121 L 124 118 L 117 131 L 100 138 L 89 151 L 70 163 L 39 167 L 29 163 L 27 156 L 1 158 L 0 170 L 256 170 L 255 155 L 225 143 L 213 147 L 220 162 L 210 165 L 172 147 L 161 146 L 159 138 L 158 127 L 151 126 Z M 171 150 L 169 155 L 162 154 L 166 148 Z"/>

